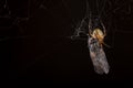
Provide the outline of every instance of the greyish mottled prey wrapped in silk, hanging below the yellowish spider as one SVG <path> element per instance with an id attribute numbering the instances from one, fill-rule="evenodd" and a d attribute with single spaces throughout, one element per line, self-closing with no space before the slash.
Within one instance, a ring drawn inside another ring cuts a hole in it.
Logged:
<path id="1" fill-rule="evenodd" d="M 108 64 L 106 56 L 105 56 L 102 45 L 100 45 L 96 38 L 89 37 L 88 46 L 90 51 L 90 57 L 94 66 L 94 70 L 98 74 L 103 74 L 103 73 L 108 74 L 110 66 Z"/>

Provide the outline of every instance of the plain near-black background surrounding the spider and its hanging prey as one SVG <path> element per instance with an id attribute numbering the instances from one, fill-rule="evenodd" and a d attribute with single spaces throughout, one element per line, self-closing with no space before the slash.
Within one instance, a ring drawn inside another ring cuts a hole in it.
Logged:
<path id="1" fill-rule="evenodd" d="M 95 8 L 90 0 L 92 11 Z M 72 41 L 85 0 L 0 0 L 3 80 L 42 84 L 125 82 L 133 78 L 133 2 L 109 0 L 103 23 L 108 75 L 94 73 L 85 41 Z"/>

